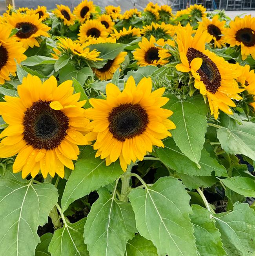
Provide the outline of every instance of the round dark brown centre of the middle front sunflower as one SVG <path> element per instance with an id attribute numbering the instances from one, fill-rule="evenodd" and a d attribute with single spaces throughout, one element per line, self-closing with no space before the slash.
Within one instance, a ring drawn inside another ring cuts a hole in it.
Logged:
<path id="1" fill-rule="evenodd" d="M 113 138 L 122 142 L 144 133 L 149 123 L 145 109 L 140 104 L 131 103 L 114 107 L 108 120 Z"/>

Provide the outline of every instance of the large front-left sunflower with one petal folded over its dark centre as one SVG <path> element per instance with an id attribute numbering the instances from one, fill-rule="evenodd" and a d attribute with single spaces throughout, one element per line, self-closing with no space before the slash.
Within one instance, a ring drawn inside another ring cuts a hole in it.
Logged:
<path id="1" fill-rule="evenodd" d="M 29 74 L 18 95 L 5 96 L 6 102 L 0 103 L 0 114 L 9 124 L 0 134 L 0 157 L 18 154 L 13 172 L 22 171 L 23 179 L 39 171 L 44 178 L 48 173 L 63 178 L 64 166 L 74 169 L 77 145 L 88 144 L 84 134 L 89 120 L 82 109 L 86 101 L 78 101 L 80 93 L 73 94 L 72 81 L 58 86 L 54 76 L 42 83 Z"/>

